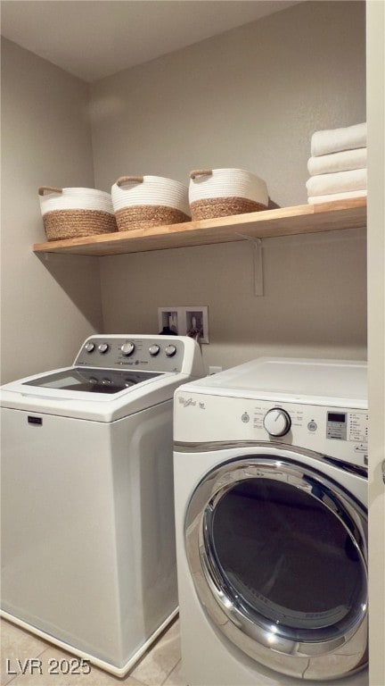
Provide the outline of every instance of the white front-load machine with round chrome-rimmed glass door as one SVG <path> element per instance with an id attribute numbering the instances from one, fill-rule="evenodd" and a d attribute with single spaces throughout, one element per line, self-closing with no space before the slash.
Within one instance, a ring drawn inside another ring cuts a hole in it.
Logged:
<path id="1" fill-rule="evenodd" d="M 188 686 L 367 684 L 366 364 L 259 358 L 174 412 Z"/>

